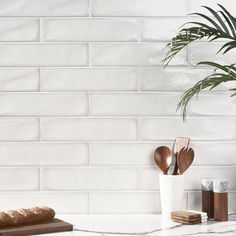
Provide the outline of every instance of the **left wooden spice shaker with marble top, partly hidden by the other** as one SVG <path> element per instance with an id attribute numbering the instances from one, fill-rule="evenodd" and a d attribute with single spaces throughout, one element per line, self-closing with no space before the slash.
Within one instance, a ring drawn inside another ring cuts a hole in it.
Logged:
<path id="1" fill-rule="evenodd" d="M 213 179 L 202 179 L 202 211 L 209 219 L 214 218 Z"/>

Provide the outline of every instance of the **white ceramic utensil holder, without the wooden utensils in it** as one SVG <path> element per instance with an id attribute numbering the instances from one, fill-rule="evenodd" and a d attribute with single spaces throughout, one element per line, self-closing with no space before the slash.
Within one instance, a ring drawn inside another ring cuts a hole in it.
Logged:
<path id="1" fill-rule="evenodd" d="M 162 216 L 183 210 L 184 175 L 159 175 Z"/>

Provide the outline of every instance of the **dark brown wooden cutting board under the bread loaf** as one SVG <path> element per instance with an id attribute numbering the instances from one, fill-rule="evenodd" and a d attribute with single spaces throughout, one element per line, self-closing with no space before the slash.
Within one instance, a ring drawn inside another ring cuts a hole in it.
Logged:
<path id="1" fill-rule="evenodd" d="M 72 231 L 73 225 L 59 219 L 33 225 L 0 228 L 0 236 L 24 236 Z"/>

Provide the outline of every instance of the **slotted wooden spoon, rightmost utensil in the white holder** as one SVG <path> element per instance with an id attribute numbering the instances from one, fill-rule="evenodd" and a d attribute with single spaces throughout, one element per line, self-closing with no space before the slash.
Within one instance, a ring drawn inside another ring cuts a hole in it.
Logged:
<path id="1" fill-rule="evenodd" d="M 192 164 L 194 159 L 194 151 L 192 148 L 183 147 L 177 155 L 177 164 L 179 173 L 182 175 Z"/>

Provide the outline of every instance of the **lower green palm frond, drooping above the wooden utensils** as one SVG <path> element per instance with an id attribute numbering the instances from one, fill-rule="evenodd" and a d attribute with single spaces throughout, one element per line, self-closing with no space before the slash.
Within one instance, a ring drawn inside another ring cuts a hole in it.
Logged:
<path id="1" fill-rule="evenodd" d="M 184 120 L 186 119 L 188 104 L 194 96 L 198 96 L 198 94 L 204 89 L 212 90 L 221 83 L 236 81 L 235 64 L 220 65 L 218 63 L 209 61 L 200 62 L 199 64 L 213 67 L 214 73 L 200 80 L 192 88 L 184 92 L 184 94 L 181 96 L 177 105 L 177 110 L 181 110 Z M 236 91 L 236 89 L 233 89 L 233 91 Z M 236 92 L 234 92 L 231 96 L 236 96 Z"/>

